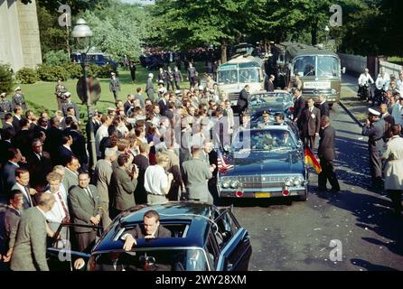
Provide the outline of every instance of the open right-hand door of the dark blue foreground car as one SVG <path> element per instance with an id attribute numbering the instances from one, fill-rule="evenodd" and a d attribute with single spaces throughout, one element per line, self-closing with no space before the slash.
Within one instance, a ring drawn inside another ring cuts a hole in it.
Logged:
<path id="1" fill-rule="evenodd" d="M 215 219 L 218 234 L 215 234 L 220 256 L 218 271 L 247 271 L 252 247 L 248 231 L 239 226 L 230 210 L 226 210 Z"/>

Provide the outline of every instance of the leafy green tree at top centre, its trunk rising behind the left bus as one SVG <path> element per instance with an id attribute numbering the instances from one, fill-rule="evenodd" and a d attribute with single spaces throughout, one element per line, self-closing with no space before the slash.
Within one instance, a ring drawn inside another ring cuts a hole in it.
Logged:
<path id="1" fill-rule="evenodd" d="M 189 48 L 220 45 L 221 61 L 227 61 L 227 45 L 242 33 L 239 13 L 247 0 L 156 0 L 153 13 L 160 39 L 171 46 Z"/>

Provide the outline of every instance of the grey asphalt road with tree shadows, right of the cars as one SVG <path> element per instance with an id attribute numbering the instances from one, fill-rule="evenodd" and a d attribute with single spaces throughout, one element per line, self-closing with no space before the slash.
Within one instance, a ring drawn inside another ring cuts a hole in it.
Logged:
<path id="1" fill-rule="evenodd" d="M 312 172 L 306 201 L 237 201 L 234 214 L 253 247 L 249 270 L 403 269 L 403 221 L 393 218 L 383 192 L 368 187 L 367 139 L 342 107 L 333 107 L 331 118 L 342 191 L 317 192 Z M 332 240 L 341 245 L 338 254 Z"/>

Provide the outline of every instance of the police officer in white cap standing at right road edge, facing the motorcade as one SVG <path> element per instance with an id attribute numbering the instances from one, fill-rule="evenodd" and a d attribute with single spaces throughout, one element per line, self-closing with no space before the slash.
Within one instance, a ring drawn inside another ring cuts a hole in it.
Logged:
<path id="1" fill-rule="evenodd" d="M 385 121 L 380 119 L 380 112 L 369 108 L 368 119 L 362 127 L 362 135 L 368 136 L 368 148 L 370 152 L 370 173 L 372 187 L 382 189 L 382 154 L 383 135 L 385 135 Z"/>

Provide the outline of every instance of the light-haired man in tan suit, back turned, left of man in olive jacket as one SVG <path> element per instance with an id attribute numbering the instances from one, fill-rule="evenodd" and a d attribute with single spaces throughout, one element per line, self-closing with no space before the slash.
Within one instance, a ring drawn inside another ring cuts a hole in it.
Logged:
<path id="1" fill-rule="evenodd" d="M 104 229 L 108 228 L 111 223 L 111 219 L 109 218 L 109 186 L 113 172 L 112 163 L 115 162 L 116 159 L 116 150 L 107 147 L 105 149 L 105 159 L 101 159 L 97 162 L 94 171 L 94 182 L 101 197 L 101 206 L 105 212 L 102 218 L 102 228 Z"/>

